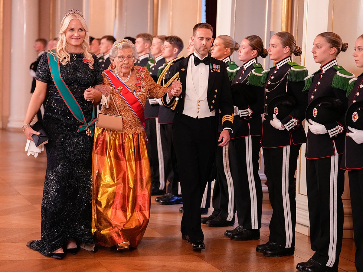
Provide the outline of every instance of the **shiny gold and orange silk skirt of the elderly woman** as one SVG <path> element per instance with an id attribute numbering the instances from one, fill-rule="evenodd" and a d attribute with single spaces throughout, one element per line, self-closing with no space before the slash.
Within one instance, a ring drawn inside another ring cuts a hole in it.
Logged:
<path id="1" fill-rule="evenodd" d="M 101 246 L 137 247 L 150 217 L 151 175 L 144 133 L 95 128 L 92 233 Z"/>

